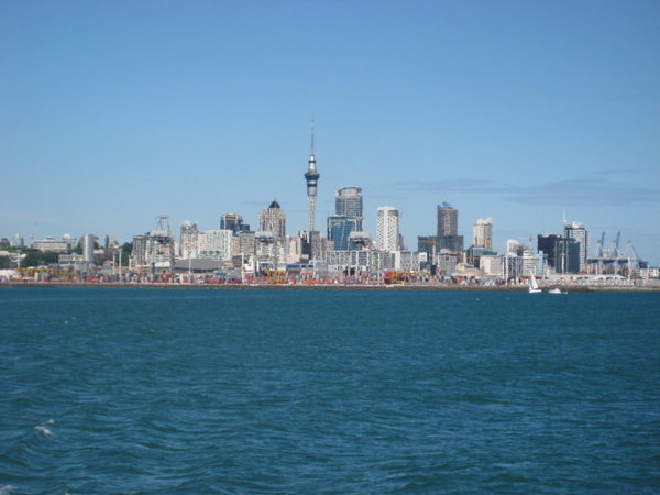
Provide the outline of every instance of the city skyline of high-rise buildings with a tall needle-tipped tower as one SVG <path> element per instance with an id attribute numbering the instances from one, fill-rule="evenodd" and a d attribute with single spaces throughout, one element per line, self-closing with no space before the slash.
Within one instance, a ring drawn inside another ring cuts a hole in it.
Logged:
<path id="1" fill-rule="evenodd" d="M 607 250 L 603 234 L 596 252 L 590 255 L 590 234 L 584 224 L 565 220 L 563 232 L 539 234 L 536 248 L 532 239 L 528 244 L 509 240 L 504 252 L 498 253 L 493 246 L 493 219 L 476 220 L 472 238 L 465 242 L 459 234 L 459 210 L 448 202 L 437 207 L 436 233 L 419 235 L 417 249 L 409 250 L 400 234 L 398 208 L 377 208 L 375 239 L 366 231 L 362 188 L 358 186 L 337 190 L 334 215 L 327 218 L 326 228 L 320 231 L 316 228 L 320 173 L 314 151 L 314 131 L 304 177 L 309 204 L 307 230 L 288 234 L 286 215 L 277 200 L 260 213 L 256 229 L 244 223 L 241 215 L 231 212 L 220 217 L 217 230 L 200 230 L 195 221 L 185 221 L 177 238 L 168 217 L 163 216 L 154 230 L 133 238 L 129 273 L 152 278 L 177 273 L 213 273 L 240 280 L 260 277 L 383 279 L 388 273 L 422 280 L 452 277 L 510 280 L 530 274 L 629 276 L 646 267 L 631 244 L 619 250 L 618 237 Z M 22 238 L 16 234 L 11 241 L 0 241 L 0 249 L 22 244 Z M 80 240 L 70 235 L 59 241 L 36 240 L 32 246 L 59 253 L 61 265 L 121 265 L 119 243 L 111 237 L 106 238 L 105 245 L 99 245 L 95 235 L 86 234 Z"/>

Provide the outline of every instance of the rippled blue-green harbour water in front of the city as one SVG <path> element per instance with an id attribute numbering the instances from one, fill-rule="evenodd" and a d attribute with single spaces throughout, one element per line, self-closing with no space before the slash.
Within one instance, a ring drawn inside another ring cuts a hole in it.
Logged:
<path id="1" fill-rule="evenodd" d="M 660 293 L 0 288 L 0 493 L 659 493 Z"/>

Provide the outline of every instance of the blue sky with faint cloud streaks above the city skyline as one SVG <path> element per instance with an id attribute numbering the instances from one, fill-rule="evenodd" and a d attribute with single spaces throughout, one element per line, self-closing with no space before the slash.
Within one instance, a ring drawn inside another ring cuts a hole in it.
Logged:
<path id="1" fill-rule="evenodd" d="M 622 231 L 660 264 L 660 2 L 0 1 L 0 237 L 121 242 L 276 198 L 317 228 L 334 193 L 436 206 L 468 239 Z M 468 243 L 468 242 L 466 242 Z"/>

